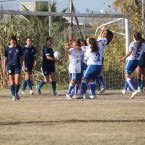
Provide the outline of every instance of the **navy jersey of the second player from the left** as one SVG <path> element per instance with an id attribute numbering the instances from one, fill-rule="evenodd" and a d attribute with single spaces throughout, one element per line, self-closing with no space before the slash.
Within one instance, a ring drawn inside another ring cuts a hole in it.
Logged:
<path id="1" fill-rule="evenodd" d="M 35 47 L 25 46 L 22 51 L 25 66 L 33 65 L 35 56 L 37 55 Z"/>

